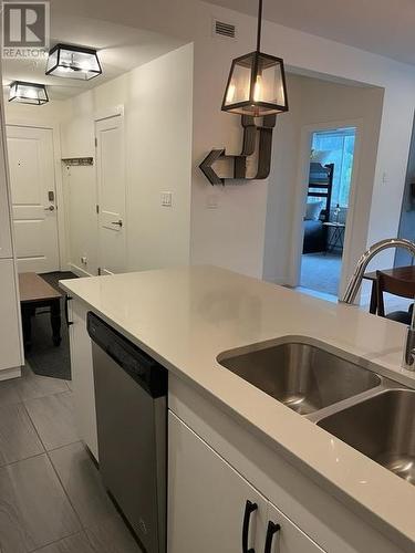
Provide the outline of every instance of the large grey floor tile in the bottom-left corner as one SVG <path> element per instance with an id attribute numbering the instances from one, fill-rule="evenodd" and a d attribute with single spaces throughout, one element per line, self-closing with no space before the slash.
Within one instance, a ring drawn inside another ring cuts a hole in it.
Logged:
<path id="1" fill-rule="evenodd" d="M 0 551 L 27 553 L 81 530 L 48 456 L 0 469 Z"/>

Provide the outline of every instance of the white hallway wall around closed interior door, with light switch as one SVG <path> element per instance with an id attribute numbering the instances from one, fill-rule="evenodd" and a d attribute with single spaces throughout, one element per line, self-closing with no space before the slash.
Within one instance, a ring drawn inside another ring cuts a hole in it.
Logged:
<path id="1" fill-rule="evenodd" d="M 127 270 L 189 262 L 193 48 L 186 45 L 70 101 L 63 157 L 94 156 L 94 117 L 124 106 Z M 96 184 L 91 167 L 65 179 L 71 263 L 96 274 Z M 173 207 L 160 205 L 173 192 Z M 82 238 L 83 237 L 83 238 Z"/>

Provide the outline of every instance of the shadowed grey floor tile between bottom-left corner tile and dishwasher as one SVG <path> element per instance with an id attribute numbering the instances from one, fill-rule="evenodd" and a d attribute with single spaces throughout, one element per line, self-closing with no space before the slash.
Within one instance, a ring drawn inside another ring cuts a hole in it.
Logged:
<path id="1" fill-rule="evenodd" d="M 84 526 L 116 514 L 100 472 L 81 442 L 55 449 L 49 457 Z"/>

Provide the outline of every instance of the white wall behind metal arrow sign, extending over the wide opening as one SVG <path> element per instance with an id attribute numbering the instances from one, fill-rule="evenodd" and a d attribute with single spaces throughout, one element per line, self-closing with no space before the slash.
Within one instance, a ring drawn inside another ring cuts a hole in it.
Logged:
<path id="1" fill-rule="evenodd" d="M 136 25 L 194 42 L 191 240 L 193 262 L 262 275 L 267 181 L 212 190 L 198 164 L 212 147 L 239 148 L 237 116 L 220 112 L 230 61 L 251 51 L 256 20 L 197 0 L 52 0 L 52 12 Z M 235 41 L 211 36 L 212 18 L 237 25 Z M 396 234 L 415 104 L 415 69 L 352 46 L 264 22 L 262 50 L 288 65 L 385 88 L 367 241 Z M 383 174 L 386 178 L 383 178 Z M 209 196 L 218 209 L 209 209 Z M 360 244 L 363 250 L 365 243 Z"/>

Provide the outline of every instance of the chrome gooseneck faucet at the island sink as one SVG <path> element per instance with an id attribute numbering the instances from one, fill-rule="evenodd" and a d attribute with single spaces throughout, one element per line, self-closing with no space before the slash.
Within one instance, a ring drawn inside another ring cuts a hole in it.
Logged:
<path id="1" fill-rule="evenodd" d="M 369 265 L 371 260 L 375 255 L 377 255 L 377 253 L 390 248 L 403 248 L 415 258 L 415 242 L 411 242 L 411 240 L 405 240 L 404 238 L 388 238 L 386 240 L 381 240 L 380 242 L 374 243 L 373 246 L 371 246 L 371 248 L 369 248 L 367 251 L 363 253 L 363 255 L 357 261 L 354 273 L 350 279 L 343 296 L 340 300 L 342 303 L 354 303 L 360 285 L 362 284 L 366 267 Z M 415 313 L 413 313 L 412 323 L 407 327 L 402 366 L 407 371 L 415 371 Z"/>

